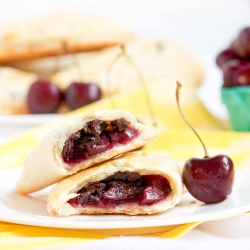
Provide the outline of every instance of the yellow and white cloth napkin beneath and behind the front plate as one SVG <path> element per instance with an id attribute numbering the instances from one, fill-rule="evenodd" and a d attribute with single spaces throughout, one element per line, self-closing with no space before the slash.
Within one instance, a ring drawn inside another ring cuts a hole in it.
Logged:
<path id="1" fill-rule="evenodd" d="M 175 101 L 176 79 L 173 76 L 147 86 L 150 102 L 157 122 L 158 137 L 149 143 L 145 150 L 167 150 L 179 161 L 191 157 L 203 157 L 203 148 L 197 137 L 182 120 Z M 145 102 L 145 87 L 115 96 L 112 100 L 115 108 L 130 110 L 138 120 L 151 125 L 152 119 Z M 180 95 L 183 112 L 204 140 L 210 156 L 226 154 L 230 156 L 235 167 L 249 169 L 250 134 L 227 131 L 224 121 L 216 120 L 205 109 L 196 96 L 195 90 L 183 87 Z M 79 110 L 70 112 L 55 122 L 28 130 L 13 137 L 0 146 L 0 169 L 21 167 L 30 150 L 53 128 L 65 120 L 72 119 L 93 109 L 113 108 L 109 99 L 103 99 Z M 0 172 L 1 174 L 1 172 Z M 14 189 L 15 183 L 13 183 Z M 145 236 L 178 238 L 202 222 L 162 227 L 160 231 Z M 117 233 L 116 233 L 117 235 Z M 64 243 L 85 242 L 112 236 L 112 233 L 97 233 L 71 229 L 53 229 L 0 222 L 1 249 L 33 249 Z"/>

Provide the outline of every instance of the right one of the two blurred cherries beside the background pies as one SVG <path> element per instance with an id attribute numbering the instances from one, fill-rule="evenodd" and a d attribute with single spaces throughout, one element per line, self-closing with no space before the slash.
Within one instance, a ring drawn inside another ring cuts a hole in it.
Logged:
<path id="1" fill-rule="evenodd" d="M 94 83 L 74 82 L 65 92 L 65 101 L 71 109 L 83 107 L 101 99 L 101 90 Z"/>

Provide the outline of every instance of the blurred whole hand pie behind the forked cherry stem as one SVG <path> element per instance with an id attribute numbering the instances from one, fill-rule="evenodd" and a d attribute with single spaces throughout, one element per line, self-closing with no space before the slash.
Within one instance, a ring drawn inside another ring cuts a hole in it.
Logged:
<path id="1" fill-rule="evenodd" d="M 175 81 L 185 82 L 191 89 L 196 89 L 204 79 L 204 68 L 199 59 L 176 42 L 165 38 L 136 38 L 124 43 L 124 47 L 146 83 L 174 76 Z M 76 55 L 79 65 L 62 69 L 51 78 L 61 89 L 66 89 L 72 82 L 96 83 L 104 94 L 141 86 L 138 73 L 125 57 L 121 57 L 113 67 L 107 85 L 107 72 L 119 53 L 121 49 L 118 46 L 79 53 Z"/>

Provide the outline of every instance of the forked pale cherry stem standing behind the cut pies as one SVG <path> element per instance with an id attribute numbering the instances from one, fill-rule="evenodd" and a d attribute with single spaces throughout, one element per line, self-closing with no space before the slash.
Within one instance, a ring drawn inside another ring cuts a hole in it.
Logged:
<path id="1" fill-rule="evenodd" d="M 153 126 L 156 126 L 156 119 L 155 119 L 155 115 L 154 115 L 154 112 L 153 112 L 153 109 L 152 109 L 152 104 L 151 104 L 151 99 L 150 99 L 150 96 L 149 96 L 149 93 L 148 93 L 148 89 L 147 89 L 147 84 L 146 84 L 146 81 L 143 77 L 143 74 L 141 73 L 141 71 L 139 70 L 139 68 L 137 67 L 136 63 L 134 62 L 134 60 L 125 53 L 125 48 L 123 45 L 120 46 L 121 47 L 121 52 L 116 56 L 116 58 L 114 59 L 114 61 L 110 64 L 109 68 L 108 68 L 108 72 L 107 72 L 107 87 L 108 87 L 108 96 L 110 98 L 110 102 L 111 102 L 111 106 L 112 107 L 115 107 L 115 103 L 114 103 L 114 100 L 113 100 L 113 97 L 112 97 L 112 93 L 111 93 L 111 88 L 110 88 L 110 75 L 111 75 L 111 71 L 114 67 L 114 65 L 120 60 L 120 58 L 122 57 L 125 57 L 126 60 L 130 63 L 130 65 L 135 69 L 138 77 L 139 77 L 139 80 L 141 82 L 141 84 L 143 85 L 143 90 L 144 90 L 144 97 L 146 99 L 146 104 L 147 104 L 147 109 L 148 109 L 148 112 L 151 116 L 151 119 L 152 119 L 152 123 L 153 123 Z"/>

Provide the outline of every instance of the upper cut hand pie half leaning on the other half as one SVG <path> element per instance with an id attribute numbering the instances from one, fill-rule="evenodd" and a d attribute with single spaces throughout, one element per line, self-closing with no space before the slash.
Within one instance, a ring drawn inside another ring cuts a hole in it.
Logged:
<path id="1" fill-rule="evenodd" d="M 98 110 L 52 131 L 28 155 L 17 191 L 28 194 L 142 147 L 155 131 L 122 110 Z"/>

